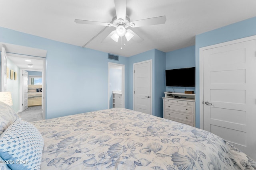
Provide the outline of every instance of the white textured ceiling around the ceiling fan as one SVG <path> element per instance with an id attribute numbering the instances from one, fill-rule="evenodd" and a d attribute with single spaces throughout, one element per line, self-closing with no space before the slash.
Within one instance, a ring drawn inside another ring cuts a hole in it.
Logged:
<path id="1" fill-rule="evenodd" d="M 127 0 L 131 21 L 166 16 L 166 23 L 131 28 L 144 41 L 126 46 L 101 41 L 114 29 L 77 24 L 111 22 L 114 0 L 0 0 L 0 26 L 48 39 L 130 57 L 150 49 L 169 52 L 195 44 L 195 35 L 256 16 L 256 0 Z"/>

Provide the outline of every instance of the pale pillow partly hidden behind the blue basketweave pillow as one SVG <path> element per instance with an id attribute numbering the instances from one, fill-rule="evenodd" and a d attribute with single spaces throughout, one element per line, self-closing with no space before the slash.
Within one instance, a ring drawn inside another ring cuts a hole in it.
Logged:
<path id="1" fill-rule="evenodd" d="M 0 135 L 10 126 L 19 116 L 8 104 L 0 102 Z"/>

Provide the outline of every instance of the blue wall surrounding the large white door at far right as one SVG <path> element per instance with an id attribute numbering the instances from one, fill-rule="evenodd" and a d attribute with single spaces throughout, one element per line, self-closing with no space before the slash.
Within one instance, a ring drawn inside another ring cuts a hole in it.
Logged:
<path id="1" fill-rule="evenodd" d="M 250 18 L 248 20 L 243 20 L 237 23 L 233 23 L 225 27 L 214 29 L 212 31 L 208 31 L 200 35 L 196 35 L 196 127 L 200 127 L 199 48 L 244 37 L 249 37 L 252 35 L 256 35 L 256 17 Z"/>

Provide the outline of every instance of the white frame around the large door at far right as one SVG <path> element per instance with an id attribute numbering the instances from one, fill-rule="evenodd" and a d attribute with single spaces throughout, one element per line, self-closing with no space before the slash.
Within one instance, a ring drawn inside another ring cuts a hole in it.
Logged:
<path id="1" fill-rule="evenodd" d="M 231 44 L 235 44 L 235 43 L 240 43 L 240 42 L 244 42 L 244 41 L 250 41 L 256 39 L 256 35 L 250 36 L 250 37 L 245 37 L 245 38 L 241 38 L 241 39 L 236 39 L 236 40 L 232 40 L 232 41 L 228 41 L 228 42 L 224 42 L 224 43 L 219 43 L 219 44 L 215 44 L 215 45 L 210 45 L 207 47 L 201 47 L 199 48 L 199 111 L 200 111 L 200 129 L 204 129 L 204 79 L 203 79 L 203 52 L 204 50 L 208 50 L 208 49 L 212 49 L 212 48 L 217 48 L 217 47 L 222 47 L 225 45 L 231 45 Z"/>

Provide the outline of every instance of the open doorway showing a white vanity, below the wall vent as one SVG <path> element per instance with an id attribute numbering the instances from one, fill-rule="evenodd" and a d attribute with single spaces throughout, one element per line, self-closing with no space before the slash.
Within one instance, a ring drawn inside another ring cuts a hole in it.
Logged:
<path id="1" fill-rule="evenodd" d="M 108 108 L 125 108 L 124 64 L 108 63 Z"/>

